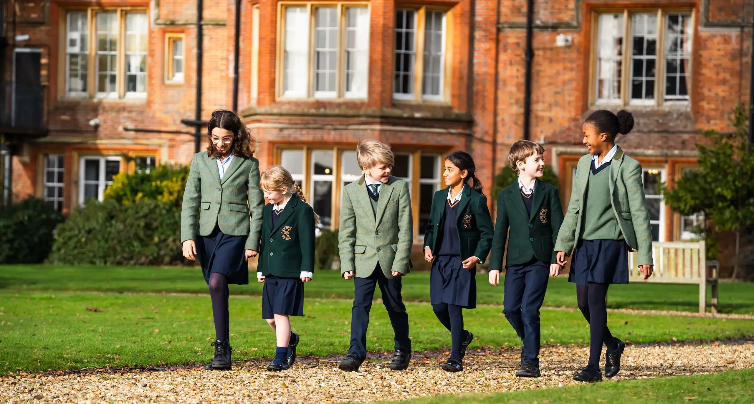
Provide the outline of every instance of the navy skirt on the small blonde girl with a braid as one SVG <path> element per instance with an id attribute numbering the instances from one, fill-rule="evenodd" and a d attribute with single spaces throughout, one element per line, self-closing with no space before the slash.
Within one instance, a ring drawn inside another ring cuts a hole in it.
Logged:
<path id="1" fill-rule="evenodd" d="M 301 278 L 265 276 L 262 288 L 262 318 L 304 315 L 304 283 Z"/>

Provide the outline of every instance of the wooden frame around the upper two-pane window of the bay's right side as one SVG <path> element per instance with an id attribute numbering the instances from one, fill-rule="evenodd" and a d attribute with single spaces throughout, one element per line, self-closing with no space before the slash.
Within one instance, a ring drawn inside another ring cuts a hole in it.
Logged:
<path id="1" fill-rule="evenodd" d="M 399 10 L 415 10 L 416 11 L 416 31 L 415 31 L 415 61 L 414 61 L 414 93 L 413 97 L 406 97 L 403 93 L 395 93 L 395 71 L 391 77 L 393 84 L 392 97 L 396 103 L 422 103 L 422 104 L 448 104 L 451 97 L 451 83 L 452 83 L 452 38 L 453 38 L 453 9 L 449 7 L 435 6 L 435 5 L 411 5 L 399 3 L 395 5 L 395 11 Z M 443 60 L 443 82 L 440 96 L 431 96 L 425 98 L 422 93 L 422 85 L 424 84 L 424 50 L 425 50 L 425 23 L 427 11 L 443 11 L 445 13 L 445 46 L 444 60 Z M 395 16 L 393 17 L 395 18 Z M 395 29 L 393 29 L 393 54 L 395 54 Z M 398 95 L 400 94 L 400 95 Z"/>

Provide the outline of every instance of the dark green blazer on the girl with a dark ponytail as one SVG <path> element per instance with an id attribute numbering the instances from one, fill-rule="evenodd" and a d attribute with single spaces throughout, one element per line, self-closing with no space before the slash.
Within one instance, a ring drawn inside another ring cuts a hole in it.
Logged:
<path id="1" fill-rule="evenodd" d="M 455 220 L 458 238 L 461 241 L 461 259 L 477 257 L 486 260 L 489 248 L 492 246 L 492 218 L 487 209 L 487 197 L 466 185 L 462 190 L 463 196 L 458 201 L 458 210 L 454 218 L 445 217 L 445 204 L 448 202 L 448 188 L 434 193 L 429 222 L 425 230 L 425 247 L 432 249 L 432 255 L 440 250 L 437 234 L 443 232 L 441 227 L 444 220 Z"/>

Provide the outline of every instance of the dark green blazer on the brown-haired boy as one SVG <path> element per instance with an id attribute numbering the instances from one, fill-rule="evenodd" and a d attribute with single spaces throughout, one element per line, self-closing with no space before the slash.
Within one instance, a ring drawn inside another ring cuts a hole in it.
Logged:
<path id="1" fill-rule="evenodd" d="M 489 269 L 503 268 L 508 238 L 507 265 L 526 264 L 532 257 L 542 262 L 556 263 L 553 245 L 563 222 L 558 188 L 537 179 L 533 198 L 532 213 L 526 213 L 518 179 L 498 194 L 498 214 L 495 217 L 495 239 L 492 240 Z"/>

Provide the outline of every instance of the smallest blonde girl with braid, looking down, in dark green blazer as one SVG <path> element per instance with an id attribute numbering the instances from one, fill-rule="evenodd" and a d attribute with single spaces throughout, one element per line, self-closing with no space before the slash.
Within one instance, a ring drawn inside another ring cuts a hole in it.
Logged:
<path id="1" fill-rule="evenodd" d="M 256 276 L 262 288 L 262 318 L 277 335 L 275 358 L 267 366 L 278 372 L 293 366 L 299 335 L 290 316 L 304 315 L 304 283 L 314 271 L 314 228 L 320 222 L 299 184 L 281 166 L 265 170 L 259 187 L 269 201 L 262 210 L 262 245 Z"/>

